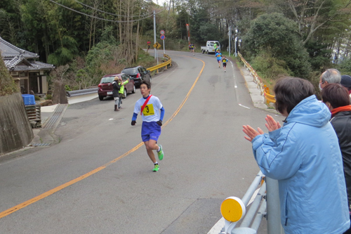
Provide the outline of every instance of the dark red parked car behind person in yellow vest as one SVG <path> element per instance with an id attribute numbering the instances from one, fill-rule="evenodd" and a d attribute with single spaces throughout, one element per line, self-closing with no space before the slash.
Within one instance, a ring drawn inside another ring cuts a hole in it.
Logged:
<path id="1" fill-rule="evenodd" d="M 100 84 L 98 85 L 98 95 L 100 100 L 103 100 L 107 96 L 112 96 L 112 82 L 114 81 L 114 77 L 122 78 L 124 82 L 129 78 L 128 74 L 124 73 L 106 74 L 104 77 L 102 77 Z M 128 84 L 124 86 L 124 96 L 127 96 L 127 93 L 135 93 L 135 84 L 133 79 L 129 79 Z"/>

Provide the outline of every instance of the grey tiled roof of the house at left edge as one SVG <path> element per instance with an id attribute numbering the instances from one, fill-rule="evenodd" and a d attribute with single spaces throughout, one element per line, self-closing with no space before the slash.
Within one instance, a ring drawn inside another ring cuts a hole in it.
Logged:
<path id="1" fill-rule="evenodd" d="M 52 70 L 55 68 L 51 64 L 34 60 L 35 58 L 39 58 L 37 53 L 22 50 L 1 37 L 0 51 L 6 67 L 11 71 Z"/>

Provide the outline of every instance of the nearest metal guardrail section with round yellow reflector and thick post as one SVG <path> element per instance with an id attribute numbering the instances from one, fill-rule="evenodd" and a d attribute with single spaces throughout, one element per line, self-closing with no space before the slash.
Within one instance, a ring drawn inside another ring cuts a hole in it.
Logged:
<path id="1" fill-rule="evenodd" d="M 256 234 L 263 217 L 267 219 L 267 233 L 284 233 L 280 223 L 278 194 L 278 182 L 265 177 L 262 171 L 259 171 L 244 197 L 241 199 L 227 197 L 222 202 L 220 212 L 225 219 L 225 226 L 220 234 Z M 253 202 L 250 205 L 249 202 L 252 199 Z M 250 207 L 246 212 L 246 207 L 249 205 Z M 236 227 L 239 221 L 241 223 L 239 227 Z"/>

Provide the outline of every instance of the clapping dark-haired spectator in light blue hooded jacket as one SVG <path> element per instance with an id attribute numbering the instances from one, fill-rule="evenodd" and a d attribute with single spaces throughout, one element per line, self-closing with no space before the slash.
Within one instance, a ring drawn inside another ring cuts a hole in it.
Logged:
<path id="1" fill-rule="evenodd" d="M 279 79 L 274 93 L 275 107 L 286 117 L 284 125 L 267 115 L 269 134 L 249 125 L 243 131 L 263 174 L 279 181 L 285 233 L 343 233 L 350 216 L 331 113 L 305 79 Z"/>

